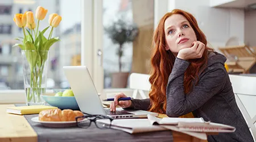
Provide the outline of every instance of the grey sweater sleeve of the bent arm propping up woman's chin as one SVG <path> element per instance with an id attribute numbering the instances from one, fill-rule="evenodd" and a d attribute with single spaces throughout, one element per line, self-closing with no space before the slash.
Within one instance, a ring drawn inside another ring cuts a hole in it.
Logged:
<path id="1" fill-rule="evenodd" d="M 174 68 L 168 78 L 166 114 L 170 117 L 185 115 L 203 106 L 205 102 L 218 94 L 224 86 L 225 70 L 212 66 L 199 78 L 199 82 L 193 87 L 193 90 L 185 94 L 184 73 L 189 64 L 188 61 L 176 58 Z"/>

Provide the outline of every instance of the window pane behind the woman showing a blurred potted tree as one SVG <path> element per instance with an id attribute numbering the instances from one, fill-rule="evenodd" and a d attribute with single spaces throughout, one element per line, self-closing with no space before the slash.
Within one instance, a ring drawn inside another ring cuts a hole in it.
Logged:
<path id="1" fill-rule="evenodd" d="M 103 26 L 104 88 L 128 87 L 131 72 L 150 71 L 154 0 L 104 0 Z"/>

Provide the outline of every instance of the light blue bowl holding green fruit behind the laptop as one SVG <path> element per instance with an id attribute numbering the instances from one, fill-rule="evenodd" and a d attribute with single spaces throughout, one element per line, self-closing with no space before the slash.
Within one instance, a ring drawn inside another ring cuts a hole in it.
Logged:
<path id="1" fill-rule="evenodd" d="M 79 110 L 75 97 L 55 97 L 52 95 L 42 95 L 44 101 L 49 105 L 63 109 Z"/>

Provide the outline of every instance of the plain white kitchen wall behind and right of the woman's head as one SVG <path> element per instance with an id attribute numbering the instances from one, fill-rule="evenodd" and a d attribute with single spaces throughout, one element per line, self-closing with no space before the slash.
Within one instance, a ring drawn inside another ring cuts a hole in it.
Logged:
<path id="1" fill-rule="evenodd" d="M 172 9 L 185 10 L 194 15 L 199 27 L 207 36 L 208 43 L 216 51 L 232 36 L 237 36 L 240 45 L 243 44 L 245 19 L 243 10 L 211 8 L 210 0 L 170 0 L 169 5 Z"/>

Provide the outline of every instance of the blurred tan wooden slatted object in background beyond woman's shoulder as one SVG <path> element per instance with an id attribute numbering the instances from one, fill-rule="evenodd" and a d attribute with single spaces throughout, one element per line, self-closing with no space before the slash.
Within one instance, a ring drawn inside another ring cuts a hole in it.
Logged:
<path id="1" fill-rule="evenodd" d="M 230 60 L 226 64 L 229 66 L 229 72 L 249 73 L 249 70 L 256 63 L 256 54 L 246 45 L 226 46 L 218 48 Z"/>

